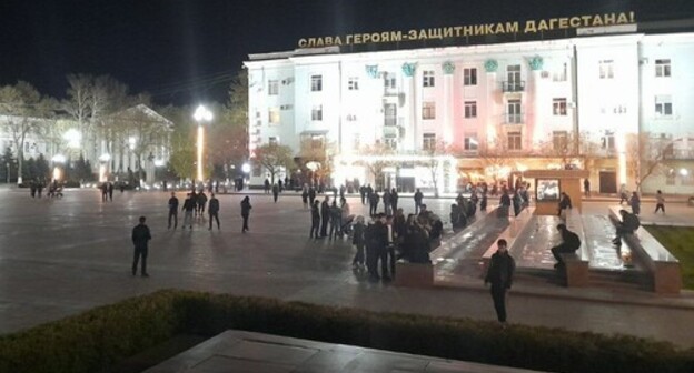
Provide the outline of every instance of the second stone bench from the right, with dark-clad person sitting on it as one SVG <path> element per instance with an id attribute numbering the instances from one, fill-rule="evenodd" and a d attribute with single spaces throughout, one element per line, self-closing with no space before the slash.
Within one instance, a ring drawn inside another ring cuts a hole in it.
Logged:
<path id="1" fill-rule="evenodd" d="M 564 273 L 566 276 L 566 286 L 587 286 L 588 285 L 588 264 L 591 263 L 591 254 L 586 245 L 585 234 L 583 232 L 583 222 L 581 213 L 577 210 L 566 210 L 566 228 L 576 233 L 581 239 L 581 248 L 574 253 L 559 254 L 564 261 Z"/>

